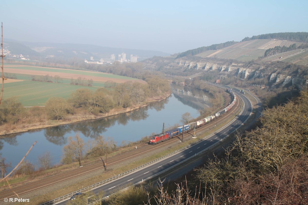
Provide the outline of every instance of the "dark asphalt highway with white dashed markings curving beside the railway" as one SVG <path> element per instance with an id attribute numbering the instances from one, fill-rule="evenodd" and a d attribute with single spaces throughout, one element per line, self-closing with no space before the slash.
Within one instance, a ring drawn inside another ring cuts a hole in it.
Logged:
<path id="1" fill-rule="evenodd" d="M 213 144 L 219 142 L 220 140 L 224 139 L 225 137 L 229 136 L 233 133 L 237 128 L 239 128 L 244 122 L 248 119 L 252 112 L 252 104 L 248 100 L 247 97 L 242 95 L 241 93 L 235 92 L 239 97 L 241 97 L 244 108 L 243 111 L 239 114 L 239 116 L 233 120 L 227 127 L 223 128 L 220 132 L 217 132 L 213 136 L 209 137 L 206 140 L 202 140 L 198 144 L 195 144 L 181 152 L 178 152 L 175 155 L 172 155 L 164 160 L 158 161 L 155 164 L 151 164 L 148 167 L 135 171 L 129 175 L 126 175 L 122 178 L 116 179 L 110 183 L 103 184 L 100 187 L 93 189 L 92 191 L 97 194 L 100 191 L 104 191 L 106 195 L 110 195 L 115 191 L 119 190 L 120 187 L 128 187 L 131 185 L 135 185 L 138 183 L 143 182 L 144 180 L 150 179 L 151 177 L 158 175 L 164 171 L 167 171 L 169 168 L 176 166 L 179 163 L 188 160 L 197 154 L 203 152 L 205 149 L 209 148 Z M 155 146 L 155 145 L 153 145 Z M 59 205 L 66 204 L 66 201 L 62 201 Z"/>

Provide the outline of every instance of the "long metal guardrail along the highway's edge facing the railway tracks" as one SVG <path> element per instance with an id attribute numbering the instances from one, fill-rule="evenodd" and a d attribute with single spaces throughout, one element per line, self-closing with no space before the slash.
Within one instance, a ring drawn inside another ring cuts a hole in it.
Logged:
<path id="1" fill-rule="evenodd" d="M 239 116 L 239 115 L 243 112 L 243 110 L 244 110 L 244 106 L 242 107 L 241 112 L 240 112 L 237 116 Z M 52 204 L 57 203 L 57 202 L 65 201 L 65 200 L 69 199 L 72 195 L 74 195 L 74 194 L 76 194 L 76 193 L 78 193 L 78 192 L 87 192 L 87 191 L 90 191 L 90 190 L 92 190 L 92 189 L 94 189 L 94 188 L 97 188 L 97 187 L 102 186 L 102 185 L 105 184 L 105 183 L 111 182 L 111 181 L 113 181 L 113 180 L 115 180 L 115 179 L 119 179 L 119 178 L 121 178 L 121 177 L 123 177 L 123 176 L 125 176 L 125 175 L 128 175 L 128 174 L 130 174 L 130 173 L 136 171 L 136 170 L 139 170 L 139 169 L 144 168 L 144 167 L 146 167 L 146 166 L 148 166 L 148 165 L 150 165 L 150 164 L 154 164 L 154 163 L 156 163 L 156 162 L 158 162 L 158 161 L 160 161 L 160 160 L 163 160 L 163 159 L 165 159 L 165 158 L 168 158 L 169 156 L 172 156 L 172 155 L 174 155 L 174 154 L 176 154 L 176 153 L 178 153 L 178 152 L 181 152 L 181 151 L 183 151 L 184 149 L 187 149 L 187 148 L 189 148 L 189 147 L 191 147 L 191 146 L 193 146 L 193 145 L 195 145 L 195 144 L 201 142 L 202 140 L 208 139 L 210 136 L 213 136 L 213 135 L 216 134 L 217 132 L 219 132 L 219 131 L 221 131 L 222 129 L 224 129 L 224 128 L 226 128 L 227 126 L 229 126 L 234 120 L 236 120 L 236 118 L 234 118 L 234 119 L 231 120 L 229 123 L 227 123 L 227 124 L 225 124 L 224 126 L 222 126 L 221 128 L 219 128 L 218 130 L 216 130 L 216 131 L 212 132 L 211 134 L 209 134 L 209 135 L 207 135 L 207 136 L 201 138 L 200 140 L 197 140 L 196 142 L 193 142 L 192 144 L 189 144 L 189 145 L 187 145 L 187 146 L 185 146 L 185 147 L 183 147 L 183 148 L 180 148 L 179 150 L 176 150 L 176 151 L 174 151 L 174 152 L 172 152 L 172 153 L 170 153 L 170 154 L 168 154 L 168 155 L 162 156 L 162 157 L 160 157 L 160 158 L 158 158 L 158 159 L 156 159 L 156 160 L 153 160 L 152 162 L 148 162 L 147 164 L 141 165 L 141 166 L 139 166 L 139 167 L 137 167 L 137 168 L 131 169 L 131 170 L 126 171 L 126 172 L 124 172 L 124 173 L 122 173 L 122 174 L 119 174 L 119 175 L 116 175 L 116 176 L 111 177 L 111 178 L 109 178 L 109 179 L 103 180 L 103 181 L 101 181 L 101 182 L 92 184 L 92 185 L 90 185 L 90 186 L 88 186 L 88 187 L 85 187 L 85 188 L 80 189 L 80 190 L 78 190 L 78 191 L 75 191 L 75 192 L 72 192 L 72 193 L 70 193 L 70 194 L 61 196 L 61 197 L 59 197 L 59 198 L 57 198 L 57 199 L 53 199 L 53 200 L 51 200 L 51 201 L 42 203 L 42 204 L 40 204 L 40 205 L 52 205 Z M 245 120 L 245 122 L 246 122 L 246 120 Z M 244 123 L 245 123 L 245 122 L 244 122 Z M 244 124 L 244 123 L 243 123 L 243 124 Z M 240 126 L 240 127 L 241 127 L 241 126 Z M 240 128 L 240 127 L 239 127 L 239 128 Z M 218 143 L 218 142 L 217 142 L 217 143 Z M 215 143 L 215 144 L 216 144 L 216 143 Z M 215 145 L 215 144 L 213 144 L 213 145 Z M 210 147 L 212 147 L 213 145 L 211 145 Z M 210 147 L 208 147 L 208 148 L 206 148 L 206 149 L 209 149 Z M 203 151 L 204 151 L 204 150 L 203 150 Z"/>

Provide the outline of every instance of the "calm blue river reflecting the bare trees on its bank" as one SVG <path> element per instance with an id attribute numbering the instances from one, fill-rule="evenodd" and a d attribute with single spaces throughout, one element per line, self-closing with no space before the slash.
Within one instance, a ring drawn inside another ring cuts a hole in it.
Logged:
<path id="1" fill-rule="evenodd" d="M 38 168 L 38 156 L 49 152 L 52 163 L 57 164 L 61 160 L 62 148 L 67 144 L 68 137 L 75 136 L 76 133 L 79 133 L 86 143 L 102 135 L 105 138 L 113 138 L 117 145 L 120 145 L 151 136 L 152 133 L 160 133 L 163 123 L 165 128 L 176 124 L 181 126 L 180 119 L 183 113 L 189 112 L 196 118 L 199 116 L 198 109 L 210 107 L 210 96 L 204 91 L 172 85 L 172 93 L 166 100 L 151 103 L 145 108 L 129 113 L 7 135 L 0 138 L 0 153 L 6 159 L 6 163 L 11 162 L 14 168 L 34 141 L 37 141 L 26 159 Z"/>

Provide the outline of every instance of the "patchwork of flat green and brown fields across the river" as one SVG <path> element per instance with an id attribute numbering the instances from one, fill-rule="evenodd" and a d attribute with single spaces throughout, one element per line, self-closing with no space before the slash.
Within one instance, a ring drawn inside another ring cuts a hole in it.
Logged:
<path id="1" fill-rule="evenodd" d="M 17 97 L 18 101 L 23 106 L 43 106 L 46 101 L 51 97 L 69 98 L 71 93 L 77 89 L 87 88 L 90 90 L 104 87 L 107 81 L 116 83 L 123 83 L 126 81 L 144 82 L 139 79 L 130 77 L 112 75 L 107 73 L 72 70 L 72 69 L 58 69 L 58 68 L 45 68 L 37 66 L 25 65 L 10 65 L 4 66 L 5 77 L 14 76 L 18 80 L 11 81 L 4 84 L 3 99 L 10 97 Z M 50 76 L 52 81 L 55 75 L 60 76 L 59 83 L 31 81 L 33 77 Z M 92 79 L 92 86 L 70 85 L 71 79 L 83 78 Z M 145 83 L 145 82 L 144 82 Z"/>

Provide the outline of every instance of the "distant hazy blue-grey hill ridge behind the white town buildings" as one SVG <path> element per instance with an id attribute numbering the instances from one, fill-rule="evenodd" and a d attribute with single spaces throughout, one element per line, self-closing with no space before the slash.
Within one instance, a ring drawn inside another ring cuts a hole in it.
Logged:
<path id="1" fill-rule="evenodd" d="M 80 58 L 88 59 L 91 57 L 99 61 L 101 58 L 110 59 L 111 54 L 115 54 L 117 60 L 118 54 L 126 53 L 126 58 L 129 59 L 130 55 L 138 56 L 138 61 L 150 58 L 153 56 L 170 56 L 169 53 L 152 50 L 139 50 L 139 49 L 126 49 L 126 48 L 111 48 L 97 45 L 87 44 L 62 44 L 62 43 L 38 43 L 38 42 L 20 42 L 8 40 L 4 43 L 5 49 L 10 51 L 12 55 L 29 56 L 31 60 L 44 61 L 46 58 Z"/>

